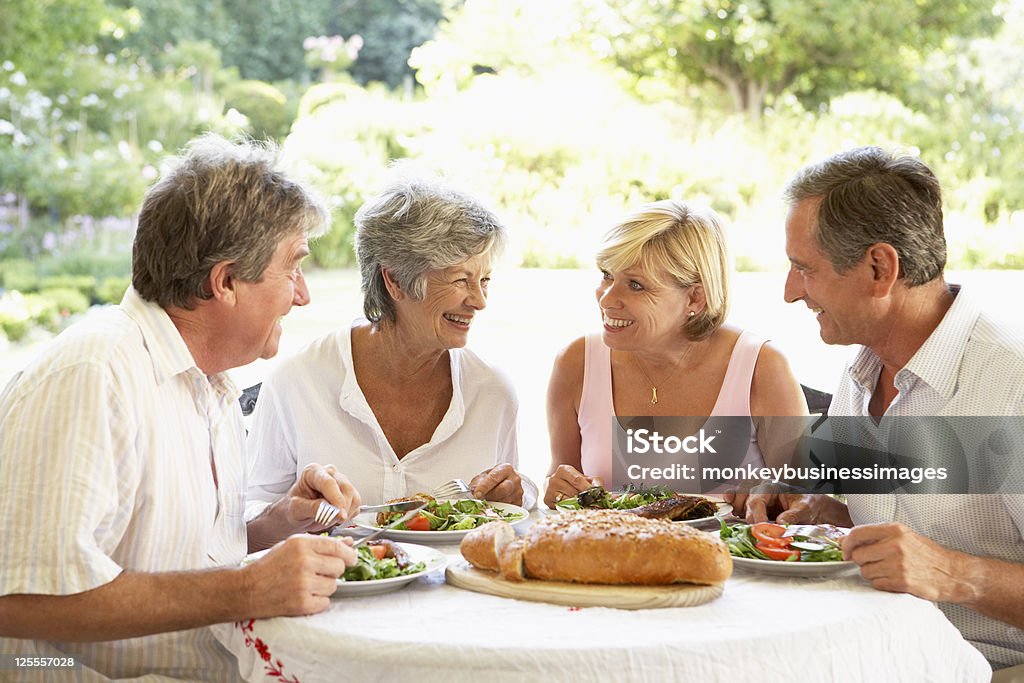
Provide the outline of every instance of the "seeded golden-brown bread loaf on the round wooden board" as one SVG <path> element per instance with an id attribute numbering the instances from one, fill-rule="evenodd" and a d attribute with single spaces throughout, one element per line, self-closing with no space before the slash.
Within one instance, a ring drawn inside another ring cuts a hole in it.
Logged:
<path id="1" fill-rule="evenodd" d="M 660 586 L 720 584 L 732 573 L 729 551 L 714 536 L 617 510 L 549 515 L 520 539 L 506 522 L 490 522 L 460 549 L 473 566 L 509 581 Z"/>

